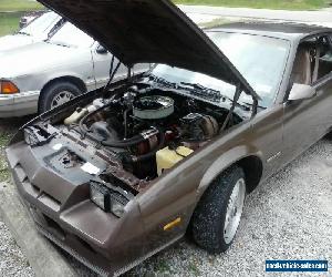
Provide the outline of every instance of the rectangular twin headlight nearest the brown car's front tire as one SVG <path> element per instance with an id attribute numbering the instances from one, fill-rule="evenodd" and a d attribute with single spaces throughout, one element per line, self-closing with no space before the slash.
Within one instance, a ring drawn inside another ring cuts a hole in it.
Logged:
<path id="1" fill-rule="evenodd" d="M 90 183 L 90 197 L 91 201 L 100 208 L 106 213 L 112 213 L 117 217 L 121 217 L 124 214 L 124 208 L 129 202 L 129 199 L 125 197 L 118 189 L 110 189 L 97 182 Z"/>

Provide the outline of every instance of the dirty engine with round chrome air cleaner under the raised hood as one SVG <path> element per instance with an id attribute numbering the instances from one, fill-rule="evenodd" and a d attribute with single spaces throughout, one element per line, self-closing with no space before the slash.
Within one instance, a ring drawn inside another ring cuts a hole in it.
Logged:
<path id="1" fill-rule="evenodd" d="M 218 135 L 228 114 L 199 100 L 135 85 L 85 110 L 80 120 L 66 119 L 66 125 L 79 123 L 84 138 L 116 153 L 126 171 L 144 179 L 169 170 L 164 160 L 174 154 L 179 158 L 170 160 L 183 160 Z"/>

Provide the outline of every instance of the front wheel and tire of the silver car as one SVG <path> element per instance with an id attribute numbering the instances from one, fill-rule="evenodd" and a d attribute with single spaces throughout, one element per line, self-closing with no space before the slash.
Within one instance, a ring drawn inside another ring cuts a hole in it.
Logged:
<path id="1" fill-rule="evenodd" d="M 83 92 L 73 83 L 66 81 L 54 82 L 46 86 L 39 100 L 39 113 L 54 109 Z"/>

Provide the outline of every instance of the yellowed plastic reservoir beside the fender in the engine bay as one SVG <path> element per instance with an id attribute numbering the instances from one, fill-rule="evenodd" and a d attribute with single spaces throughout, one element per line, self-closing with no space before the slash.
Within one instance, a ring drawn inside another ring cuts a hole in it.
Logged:
<path id="1" fill-rule="evenodd" d="M 158 176 L 162 175 L 164 170 L 172 168 L 183 158 L 189 156 L 193 152 L 193 150 L 185 146 L 179 146 L 176 151 L 169 150 L 168 147 L 159 150 L 156 153 Z"/>

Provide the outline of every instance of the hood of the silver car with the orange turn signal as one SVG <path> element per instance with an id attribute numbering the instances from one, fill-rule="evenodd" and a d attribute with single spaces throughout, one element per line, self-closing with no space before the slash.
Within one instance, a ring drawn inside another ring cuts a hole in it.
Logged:
<path id="1" fill-rule="evenodd" d="M 0 52 L 0 79 L 14 79 L 84 63 L 84 57 L 91 59 L 91 55 L 84 55 L 83 52 L 90 52 L 90 49 L 66 48 L 48 42 L 3 51 Z"/>

